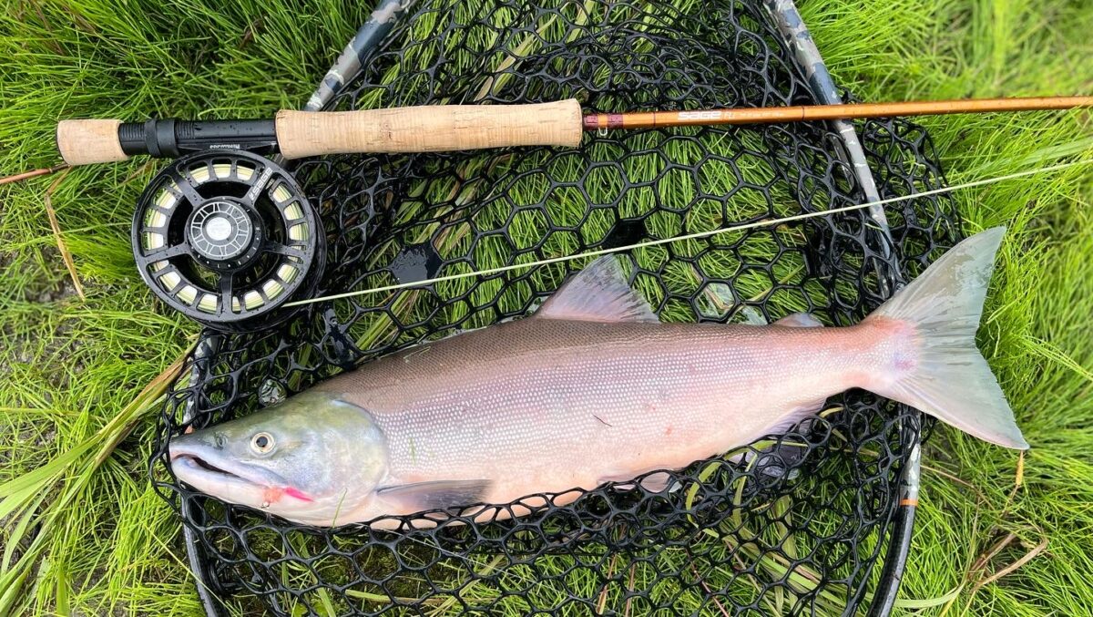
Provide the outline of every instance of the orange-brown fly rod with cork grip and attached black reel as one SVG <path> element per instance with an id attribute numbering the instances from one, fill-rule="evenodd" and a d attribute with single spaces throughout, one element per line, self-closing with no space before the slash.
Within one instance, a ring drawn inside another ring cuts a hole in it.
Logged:
<path id="1" fill-rule="evenodd" d="M 63 120 L 57 126 L 57 145 L 66 165 L 20 179 L 140 154 L 175 159 L 152 178 L 137 203 L 131 229 L 137 268 L 161 300 L 187 316 L 218 329 L 245 330 L 287 315 L 281 306 L 306 300 L 324 267 L 319 213 L 285 161 L 346 153 L 574 148 L 588 131 L 1074 107 L 1093 107 L 1093 96 L 621 114 L 585 114 L 569 98 L 524 105 L 281 110 L 263 120 Z"/>

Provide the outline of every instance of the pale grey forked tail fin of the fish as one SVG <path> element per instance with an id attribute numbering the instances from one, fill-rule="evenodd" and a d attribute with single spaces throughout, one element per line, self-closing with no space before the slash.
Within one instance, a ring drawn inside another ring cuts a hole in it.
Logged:
<path id="1" fill-rule="evenodd" d="M 998 380 L 975 346 L 995 253 L 1006 228 L 978 233 L 950 249 L 867 319 L 914 327 L 917 354 L 906 373 L 878 392 L 982 440 L 1024 450 Z"/>

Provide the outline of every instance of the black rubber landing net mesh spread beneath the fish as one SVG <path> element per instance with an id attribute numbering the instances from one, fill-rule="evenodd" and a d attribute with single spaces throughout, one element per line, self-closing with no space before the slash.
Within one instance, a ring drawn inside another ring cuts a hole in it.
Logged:
<path id="1" fill-rule="evenodd" d="M 760 2 L 683 4 L 421 2 L 336 106 L 814 102 Z M 857 128 L 882 197 L 942 185 L 920 127 Z M 589 133 L 575 150 L 332 156 L 297 172 L 328 231 L 328 294 L 861 202 L 841 153 L 826 125 L 800 124 Z M 888 216 L 889 258 L 877 224 L 854 211 L 630 251 L 631 282 L 663 321 L 808 311 L 855 323 L 957 233 L 944 198 Z M 197 428 L 249 414 L 356 362 L 524 315 L 587 263 L 315 304 L 274 330 L 221 338 L 173 389 L 152 461 L 205 583 L 283 615 L 838 614 L 867 601 L 920 434 L 917 412 L 858 391 L 753 445 L 748 463 L 674 473 L 673 492 L 608 486 L 489 524 L 305 527 L 171 476 L 164 453 L 190 426 L 187 405 Z"/>

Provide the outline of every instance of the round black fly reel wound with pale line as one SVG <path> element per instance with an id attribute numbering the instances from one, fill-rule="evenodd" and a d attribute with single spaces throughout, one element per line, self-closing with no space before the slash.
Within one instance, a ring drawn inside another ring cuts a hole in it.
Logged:
<path id="1" fill-rule="evenodd" d="M 133 257 L 155 294 L 224 330 L 255 329 L 322 270 L 318 217 L 292 175 L 246 151 L 176 160 L 141 195 Z M 262 317 L 261 319 L 258 319 Z"/>

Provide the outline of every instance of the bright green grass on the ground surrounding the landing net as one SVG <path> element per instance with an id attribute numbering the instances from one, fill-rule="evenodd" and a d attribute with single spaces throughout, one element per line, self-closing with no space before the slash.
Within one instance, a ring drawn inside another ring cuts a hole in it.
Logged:
<path id="1" fill-rule="evenodd" d="M 802 4 L 837 81 L 867 101 L 1093 92 L 1088 2 Z M 52 164 L 58 118 L 262 117 L 298 106 L 368 12 L 309 5 L 8 2 L 0 174 Z M 922 124 L 952 183 L 1093 154 L 1088 112 Z M 158 392 L 138 397 L 197 330 L 153 303 L 129 254 L 132 207 L 154 171 L 73 170 L 54 193 L 86 300 L 46 217 L 51 181 L 0 189 L 0 613 L 200 612 L 177 519 L 146 479 Z M 980 344 L 1033 450 L 1022 468 L 1011 452 L 939 428 L 904 610 L 1093 614 L 1091 178 L 1072 168 L 956 195 L 968 233 L 1010 228 Z M 524 229 L 519 241 L 533 243 L 536 221 Z M 556 242 L 564 251 L 572 238 Z M 381 338 L 384 324 L 372 326 L 360 336 Z"/>

